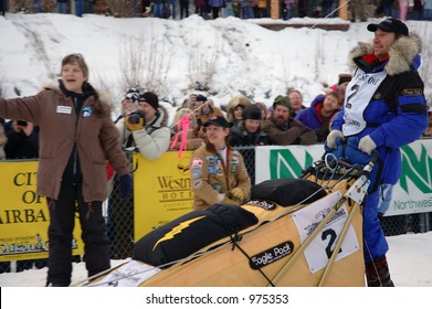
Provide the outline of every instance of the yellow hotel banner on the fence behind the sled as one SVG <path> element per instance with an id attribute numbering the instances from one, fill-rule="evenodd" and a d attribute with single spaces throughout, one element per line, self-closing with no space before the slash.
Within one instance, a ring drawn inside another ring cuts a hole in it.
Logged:
<path id="1" fill-rule="evenodd" d="M 135 241 L 185 213 L 192 211 L 191 151 L 168 151 L 156 161 L 134 156 Z"/>

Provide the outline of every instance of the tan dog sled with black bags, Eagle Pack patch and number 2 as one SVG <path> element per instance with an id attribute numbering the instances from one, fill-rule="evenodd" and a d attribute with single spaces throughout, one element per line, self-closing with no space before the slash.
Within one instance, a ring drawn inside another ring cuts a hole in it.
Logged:
<path id="1" fill-rule="evenodd" d="M 251 201 L 192 211 L 145 235 L 133 259 L 84 286 L 365 286 L 360 205 L 375 158 L 331 153 Z"/>

